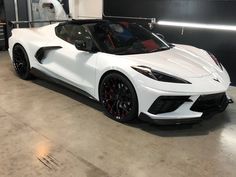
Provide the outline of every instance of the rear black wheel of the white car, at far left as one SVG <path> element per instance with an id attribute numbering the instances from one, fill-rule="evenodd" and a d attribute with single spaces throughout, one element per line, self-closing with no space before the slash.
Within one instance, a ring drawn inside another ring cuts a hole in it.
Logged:
<path id="1" fill-rule="evenodd" d="M 28 55 L 23 46 L 16 44 L 13 48 L 13 66 L 16 74 L 24 80 L 32 79 L 32 74 L 30 73 L 30 63 Z"/>

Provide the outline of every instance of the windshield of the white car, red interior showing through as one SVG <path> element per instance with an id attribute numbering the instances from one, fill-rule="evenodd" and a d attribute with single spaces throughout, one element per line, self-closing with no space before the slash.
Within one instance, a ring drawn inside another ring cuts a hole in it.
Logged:
<path id="1" fill-rule="evenodd" d="M 164 40 L 134 23 L 101 22 L 88 27 L 106 53 L 128 55 L 170 49 Z"/>

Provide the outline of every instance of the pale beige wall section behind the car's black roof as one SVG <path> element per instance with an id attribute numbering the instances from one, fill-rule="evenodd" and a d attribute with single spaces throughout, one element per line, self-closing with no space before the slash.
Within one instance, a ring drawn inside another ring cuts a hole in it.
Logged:
<path id="1" fill-rule="evenodd" d="M 69 7 L 74 19 L 102 18 L 103 0 L 69 0 Z"/>

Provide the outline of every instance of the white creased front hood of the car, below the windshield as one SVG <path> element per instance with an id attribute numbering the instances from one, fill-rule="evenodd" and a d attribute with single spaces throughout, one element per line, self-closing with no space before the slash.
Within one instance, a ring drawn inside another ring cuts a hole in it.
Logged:
<path id="1" fill-rule="evenodd" d="M 183 78 L 197 78 L 216 72 L 216 64 L 201 49 L 190 46 L 176 45 L 166 51 L 147 54 L 129 55 L 138 65 L 145 65 L 168 74 Z"/>

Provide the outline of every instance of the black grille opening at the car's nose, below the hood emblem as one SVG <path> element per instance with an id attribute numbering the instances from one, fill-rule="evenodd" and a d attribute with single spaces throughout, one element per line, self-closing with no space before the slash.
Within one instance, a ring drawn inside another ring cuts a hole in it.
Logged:
<path id="1" fill-rule="evenodd" d="M 224 111 L 229 101 L 225 93 L 202 95 L 191 107 L 192 111 L 209 113 Z"/>

